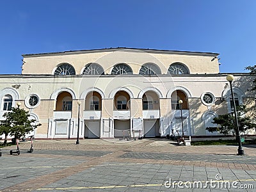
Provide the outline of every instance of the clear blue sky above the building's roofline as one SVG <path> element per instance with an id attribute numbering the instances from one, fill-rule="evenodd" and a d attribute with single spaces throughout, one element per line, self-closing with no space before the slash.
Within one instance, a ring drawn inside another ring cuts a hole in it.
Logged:
<path id="1" fill-rule="evenodd" d="M 21 54 L 105 47 L 220 53 L 220 72 L 256 65 L 256 1 L 1 1 L 0 74 Z"/>

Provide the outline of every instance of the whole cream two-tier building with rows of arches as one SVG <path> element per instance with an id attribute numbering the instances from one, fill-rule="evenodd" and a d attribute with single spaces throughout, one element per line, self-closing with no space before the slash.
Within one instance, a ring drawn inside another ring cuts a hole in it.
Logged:
<path id="1" fill-rule="evenodd" d="M 36 138 L 76 138 L 78 124 L 80 138 L 132 131 L 163 137 L 181 132 L 182 124 L 185 135 L 218 136 L 205 127 L 232 111 L 218 55 L 127 48 L 24 54 L 21 75 L 0 76 L 0 118 L 21 102 L 42 124 Z M 255 93 L 248 90 L 253 78 L 234 76 L 236 104 L 254 114 Z"/>

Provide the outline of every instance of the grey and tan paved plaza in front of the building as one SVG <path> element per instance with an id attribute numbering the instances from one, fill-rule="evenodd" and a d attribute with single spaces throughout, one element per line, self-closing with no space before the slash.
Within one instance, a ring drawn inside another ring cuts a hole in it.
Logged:
<path id="1" fill-rule="evenodd" d="M 255 191 L 255 145 L 182 146 L 166 139 L 35 140 L 1 148 L 0 191 Z"/>

